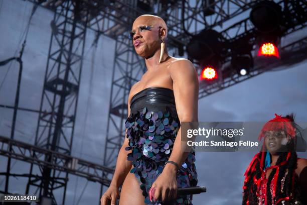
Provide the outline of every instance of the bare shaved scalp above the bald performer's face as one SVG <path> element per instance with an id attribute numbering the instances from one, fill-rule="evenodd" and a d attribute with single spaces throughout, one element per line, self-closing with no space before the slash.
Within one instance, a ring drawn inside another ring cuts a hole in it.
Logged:
<path id="1" fill-rule="evenodd" d="M 164 40 L 167 40 L 168 27 L 167 27 L 165 21 L 161 17 L 150 15 L 150 14 L 141 15 L 134 20 L 132 30 L 135 30 L 136 27 L 138 27 L 141 24 L 158 26 L 158 27 L 160 26 L 160 27 L 164 28 L 165 31 L 166 31 L 166 35 L 165 35 Z"/>

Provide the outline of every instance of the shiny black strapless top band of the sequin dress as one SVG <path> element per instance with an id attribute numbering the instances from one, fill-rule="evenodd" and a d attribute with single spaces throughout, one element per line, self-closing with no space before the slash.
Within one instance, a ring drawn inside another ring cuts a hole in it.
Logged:
<path id="1" fill-rule="evenodd" d="M 150 111 L 161 111 L 166 106 L 177 115 L 174 91 L 166 87 L 147 87 L 131 98 L 130 113 L 135 113 L 144 107 Z"/>

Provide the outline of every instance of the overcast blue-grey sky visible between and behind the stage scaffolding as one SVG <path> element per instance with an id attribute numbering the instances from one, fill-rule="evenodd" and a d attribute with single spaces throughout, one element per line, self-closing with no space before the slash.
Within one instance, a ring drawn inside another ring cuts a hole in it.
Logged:
<path id="1" fill-rule="evenodd" d="M 0 60 L 14 56 L 21 48 L 22 33 L 31 10 L 32 4 L 28 2 L 0 0 Z M 20 107 L 39 110 L 52 19 L 51 12 L 39 8 L 31 22 L 23 56 Z M 115 42 L 102 36 L 97 48 L 90 48 L 93 39 L 94 33 L 88 31 L 72 155 L 102 164 Z M 297 122 L 307 122 L 306 62 L 266 72 L 200 99 L 199 121 L 267 121 L 274 117 L 274 113 L 285 115 L 294 112 Z M 0 67 L 2 105 L 14 106 L 18 66 L 14 62 Z M 0 135 L 10 136 L 12 116 L 12 110 L 0 108 Z M 34 143 L 37 120 L 37 114 L 19 111 L 15 139 Z M 243 173 L 254 154 L 197 152 L 198 185 L 206 186 L 207 192 L 195 195 L 194 204 L 240 204 Z M 307 158 L 305 152 L 298 153 L 298 156 Z M 0 156 L 0 172 L 6 170 L 6 162 L 7 158 Z M 27 163 L 13 160 L 12 166 L 13 173 L 29 173 Z M 100 198 L 98 183 L 87 183 L 85 179 L 73 175 L 69 179 L 66 204 L 77 204 L 84 187 L 79 204 L 97 203 Z M 24 192 L 26 182 L 22 178 L 12 178 L 10 191 Z M 5 178 L 1 176 L 0 189 L 4 190 L 4 187 Z"/>

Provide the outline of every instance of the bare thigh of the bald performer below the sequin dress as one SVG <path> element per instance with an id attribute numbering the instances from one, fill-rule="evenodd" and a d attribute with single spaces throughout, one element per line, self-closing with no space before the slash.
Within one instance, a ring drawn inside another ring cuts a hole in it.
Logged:
<path id="1" fill-rule="evenodd" d="M 129 172 L 121 187 L 119 205 L 144 205 L 144 200 L 137 178 Z"/>

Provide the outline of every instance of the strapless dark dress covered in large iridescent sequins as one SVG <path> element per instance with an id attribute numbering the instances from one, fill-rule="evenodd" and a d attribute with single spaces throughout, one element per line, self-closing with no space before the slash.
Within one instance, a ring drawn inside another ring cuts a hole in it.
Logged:
<path id="1" fill-rule="evenodd" d="M 163 204 L 149 200 L 148 191 L 162 173 L 169 159 L 180 128 L 174 91 L 165 87 L 148 87 L 136 93 L 130 102 L 130 116 L 125 122 L 129 146 L 127 159 L 132 161 L 134 173 L 146 204 Z M 195 152 L 190 152 L 177 174 L 177 186 L 197 185 Z M 170 203 L 168 203 L 170 204 Z M 192 204 L 192 195 L 177 195 L 172 204 Z"/>

